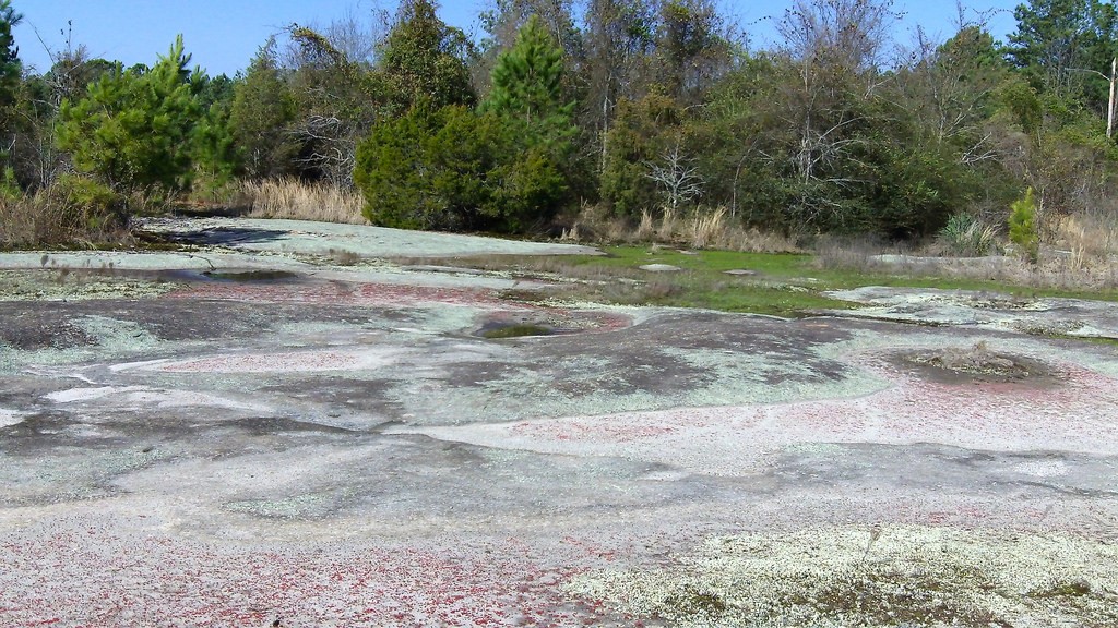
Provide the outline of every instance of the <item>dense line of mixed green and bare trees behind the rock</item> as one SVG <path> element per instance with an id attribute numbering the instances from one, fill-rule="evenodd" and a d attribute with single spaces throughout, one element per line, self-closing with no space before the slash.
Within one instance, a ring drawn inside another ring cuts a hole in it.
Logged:
<path id="1" fill-rule="evenodd" d="M 354 187 L 385 226 L 532 232 L 580 208 L 723 208 L 745 226 L 919 238 L 1114 211 L 1107 114 L 1116 11 L 1030 0 L 996 41 L 980 16 L 892 46 L 888 0 L 797 0 L 749 46 L 711 0 L 493 0 L 482 36 L 430 0 L 291 25 L 234 77 L 181 38 L 149 66 L 18 57 L 0 0 L 4 194 L 53 185 L 176 199 L 290 177 Z"/>

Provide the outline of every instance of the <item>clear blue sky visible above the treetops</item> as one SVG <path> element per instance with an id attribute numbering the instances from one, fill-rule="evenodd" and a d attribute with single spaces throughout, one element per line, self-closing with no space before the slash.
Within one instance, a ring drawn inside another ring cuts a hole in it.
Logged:
<path id="1" fill-rule="evenodd" d="M 996 37 L 1013 30 L 1012 8 L 1020 0 L 974 0 L 972 7 L 993 10 L 988 23 Z M 444 1 L 440 17 L 467 32 L 476 29 L 477 12 L 487 0 Z M 771 20 L 788 7 L 788 0 L 757 2 L 721 0 L 727 15 L 741 23 L 755 46 L 774 40 Z M 233 75 L 248 65 L 256 49 L 272 34 L 292 22 L 324 26 L 348 15 L 364 19 L 378 8 L 395 8 L 394 0 L 13 0 L 23 13 L 16 29 L 16 44 L 25 64 L 39 72 L 50 67 L 47 49 L 66 47 L 67 20 L 73 22 L 73 44 L 85 45 L 94 57 L 125 65 L 151 65 L 182 34 L 193 64 L 211 75 Z M 904 19 L 897 37 L 909 40 L 917 23 L 932 35 L 954 32 L 954 1 L 898 0 Z M 41 41 L 40 41 L 41 38 Z"/>

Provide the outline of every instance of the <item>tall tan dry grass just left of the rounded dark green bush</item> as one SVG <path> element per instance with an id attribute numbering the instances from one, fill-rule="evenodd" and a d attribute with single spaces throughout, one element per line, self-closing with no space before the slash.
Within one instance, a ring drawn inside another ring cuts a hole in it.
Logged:
<path id="1" fill-rule="evenodd" d="M 278 179 L 241 182 L 240 194 L 253 218 L 369 223 L 361 213 L 361 196 L 353 190 Z"/>

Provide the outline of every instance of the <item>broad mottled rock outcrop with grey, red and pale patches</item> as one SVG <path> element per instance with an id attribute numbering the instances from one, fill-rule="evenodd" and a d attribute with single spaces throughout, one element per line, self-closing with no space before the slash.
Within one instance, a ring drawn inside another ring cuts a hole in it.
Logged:
<path id="1" fill-rule="evenodd" d="M 243 245 L 207 255 L 287 274 L 0 280 L 0 625 L 1118 621 L 1114 346 Z"/>

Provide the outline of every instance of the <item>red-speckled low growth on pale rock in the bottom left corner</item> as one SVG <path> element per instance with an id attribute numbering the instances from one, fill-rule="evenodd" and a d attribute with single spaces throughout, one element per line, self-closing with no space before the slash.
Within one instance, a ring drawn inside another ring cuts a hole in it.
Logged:
<path id="1" fill-rule="evenodd" d="M 0 618 L 13 627 L 595 624 L 560 591 L 587 568 L 544 564 L 514 539 L 238 549 L 91 526 L 10 537 L 0 550 Z M 570 545 L 566 560 L 584 550 Z"/>

